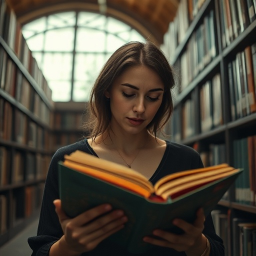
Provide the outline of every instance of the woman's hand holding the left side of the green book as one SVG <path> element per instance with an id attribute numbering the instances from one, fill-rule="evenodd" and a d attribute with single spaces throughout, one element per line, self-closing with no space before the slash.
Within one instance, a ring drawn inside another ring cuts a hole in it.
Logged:
<path id="1" fill-rule="evenodd" d="M 102 240 L 123 228 L 127 217 L 122 210 L 101 204 L 74 218 L 61 209 L 61 201 L 53 201 L 64 235 L 50 248 L 53 255 L 80 255 L 94 249 Z"/>

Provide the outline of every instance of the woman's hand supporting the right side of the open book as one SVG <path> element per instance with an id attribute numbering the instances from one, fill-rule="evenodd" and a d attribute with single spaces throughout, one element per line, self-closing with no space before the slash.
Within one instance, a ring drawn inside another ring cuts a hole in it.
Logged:
<path id="1" fill-rule="evenodd" d="M 206 237 L 202 234 L 205 216 L 203 209 L 197 211 L 196 219 L 193 224 L 187 223 L 182 219 L 174 219 L 173 224 L 184 230 L 183 234 L 174 234 L 164 230 L 155 229 L 155 237 L 145 236 L 143 240 L 155 245 L 173 248 L 176 251 L 185 251 L 186 255 L 201 255 L 206 248 Z"/>

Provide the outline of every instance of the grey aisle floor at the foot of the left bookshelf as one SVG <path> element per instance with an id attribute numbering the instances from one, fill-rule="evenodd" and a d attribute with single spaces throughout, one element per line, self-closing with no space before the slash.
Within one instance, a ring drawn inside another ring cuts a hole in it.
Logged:
<path id="1" fill-rule="evenodd" d="M 29 236 L 36 235 L 38 219 L 35 219 L 26 228 L 0 247 L 1 256 L 29 256 L 32 253 L 27 243 Z"/>

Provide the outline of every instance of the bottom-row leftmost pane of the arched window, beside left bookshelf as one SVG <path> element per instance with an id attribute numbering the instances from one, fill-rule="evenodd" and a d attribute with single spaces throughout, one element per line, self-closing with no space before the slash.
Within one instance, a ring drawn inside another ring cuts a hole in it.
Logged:
<path id="1" fill-rule="evenodd" d="M 69 101 L 71 99 L 70 81 L 48 80 L 49 87 L 52 89 L 53 101 Z"/>

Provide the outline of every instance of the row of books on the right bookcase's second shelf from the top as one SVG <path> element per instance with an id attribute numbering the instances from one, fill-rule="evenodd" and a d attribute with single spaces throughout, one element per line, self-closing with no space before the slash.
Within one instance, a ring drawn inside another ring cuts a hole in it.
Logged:
<path id="1" fill-rule="evenodd" d="M 237 52 L 235 58 L 227 64 L 230 117 L 238 118 L 256 112 L 256 43 Z M 174 109 L 172 116 L 172 136 L 179 141 L 195 134 L 197 114 L 194 92 L 182 104 L 182 109 Z M 220 74 L 216 73 L 199 87 L 200 132 L 208 131 L 223 124 L 223 103 Z M 182 116 L 182 125 L 180 125 Z"/>

